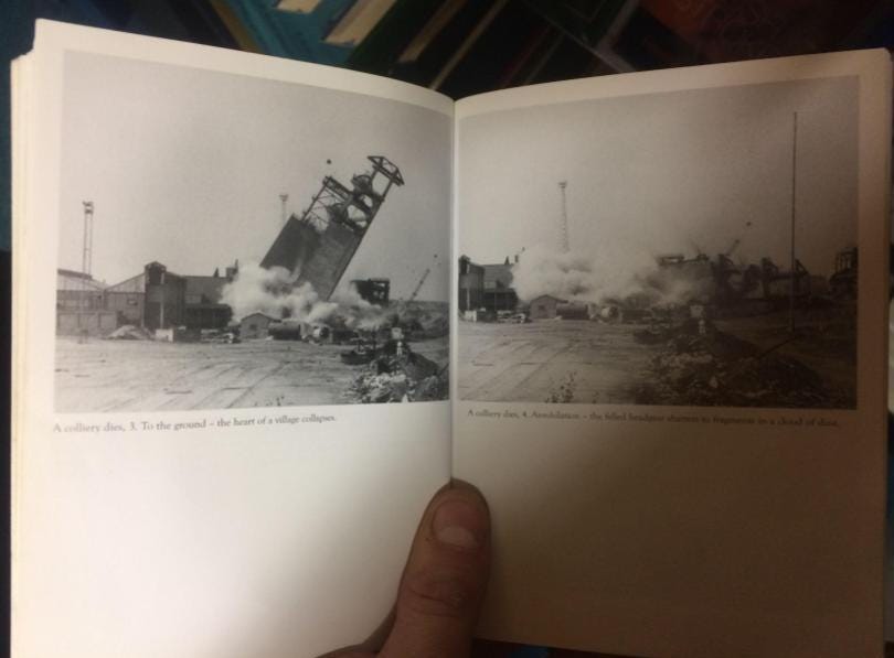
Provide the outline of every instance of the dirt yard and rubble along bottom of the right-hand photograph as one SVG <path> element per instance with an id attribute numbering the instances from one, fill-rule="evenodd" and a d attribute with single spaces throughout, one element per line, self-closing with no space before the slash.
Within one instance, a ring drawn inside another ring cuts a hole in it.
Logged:
<path id="1" fill-rule="evenodd" d="M 837 305 L 800 310 L 794 335 L 785 313 L 719 320 L 704 337 L 682 326 L 584 320 L 460 322 L 459 398 L 852 408 L 853 313 Z"/>

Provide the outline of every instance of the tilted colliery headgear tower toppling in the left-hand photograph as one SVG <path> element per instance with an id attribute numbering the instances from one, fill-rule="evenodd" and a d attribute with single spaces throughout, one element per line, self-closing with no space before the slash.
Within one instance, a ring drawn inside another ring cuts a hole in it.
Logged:
<path id="1" fill-rule="evenodd" d="M 370 171 L 355 174 L 352 186 L 323 177 L 310 206 L 291 215 L 260 267 L 281 267 L 296 285 L 310 283 L 328 300 L 356 254 L 363 236 L 394 185 L 403 185 L 401 170 L 383 155 L 370 155 Z"/>

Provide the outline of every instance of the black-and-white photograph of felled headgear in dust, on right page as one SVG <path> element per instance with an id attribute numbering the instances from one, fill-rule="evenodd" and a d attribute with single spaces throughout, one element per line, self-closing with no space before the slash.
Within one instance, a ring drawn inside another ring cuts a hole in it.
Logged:
<path id="1" fill-rule="evenodd" d="M 853 409 L 858 80 L 458 121 L 458 396 Z"/>

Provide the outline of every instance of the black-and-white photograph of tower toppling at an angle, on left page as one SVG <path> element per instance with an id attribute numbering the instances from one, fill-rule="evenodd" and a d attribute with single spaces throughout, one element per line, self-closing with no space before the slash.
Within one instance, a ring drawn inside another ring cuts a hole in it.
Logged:
<path id="1" fill-rule="evenodd" d="M 67 53 L 62 134 L 56 411 L 448 398 L 449 116 Z"/>

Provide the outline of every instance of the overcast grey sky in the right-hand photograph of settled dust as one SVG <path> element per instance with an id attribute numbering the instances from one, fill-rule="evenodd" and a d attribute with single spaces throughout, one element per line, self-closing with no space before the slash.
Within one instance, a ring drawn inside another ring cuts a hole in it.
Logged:
<path id="1" fill-rule="evenodd" d="M 856 78 L 828 78 L 466 118 L 460 251 L 502 262 L 523 248 L 558 249 L 564 180 L 575 251 L 694 256 L 698 247 L 713 257 L 741 239 L 736 260 L 770 256 L 787 269 L 797 110 L 796 250 L 829 274 L 836 251 L 856 240 Z"/>

